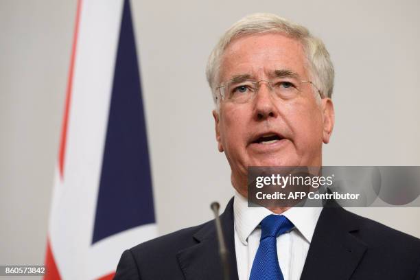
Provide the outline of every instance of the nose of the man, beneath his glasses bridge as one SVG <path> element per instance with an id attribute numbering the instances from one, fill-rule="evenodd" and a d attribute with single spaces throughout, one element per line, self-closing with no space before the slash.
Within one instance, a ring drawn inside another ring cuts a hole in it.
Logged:
<path id="1" fill-rule="evenodd" d="M 268 119 L 269 117 L 277 117 L 277 109 L 275 100 L 270 89 L 270 85 L 266 82 L 260 82 L 258 91 L 254 98 L 254 116 L 257 121 Z"/>

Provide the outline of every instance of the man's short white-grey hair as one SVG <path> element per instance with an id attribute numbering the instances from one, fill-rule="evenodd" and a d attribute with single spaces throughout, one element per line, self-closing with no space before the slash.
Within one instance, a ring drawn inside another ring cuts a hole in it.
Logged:
<path id="1" fill-rule="evenodd" d="M 281 33 L 299 40 L 306 54 L 310 79 L 320 90 L 322 97 L 331 98 L 334 87 L 334 66 L 322 40 L 312 36 L 302 25 L 283 19 L 275 14 L 250 14 L 234 23 L 227 30 L 209 56 L 207 62 L 207 82 L 216 102 L 215 89 L 219 85 L 220 63 L 226 47 L 235 38 L 250 34 Z M 316 92 L 318 95 L 318 92 Z"/>

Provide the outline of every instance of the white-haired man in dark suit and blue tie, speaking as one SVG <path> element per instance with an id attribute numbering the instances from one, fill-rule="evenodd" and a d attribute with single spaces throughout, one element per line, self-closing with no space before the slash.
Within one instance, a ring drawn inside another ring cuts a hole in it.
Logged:
<path id="1" fill-rule="evenodd" d="M 235 196 L 220 216 L 230 279 L 420 279 L 420 240 L 331 208 L 248 208 L 249 166 L 321 166 L 334 127 L 334 69 L 322 41 L 273 14 L 235 23 L 207 80 Z M 115 279 L 222 279 L 214 221 L 121 256 Z"/>

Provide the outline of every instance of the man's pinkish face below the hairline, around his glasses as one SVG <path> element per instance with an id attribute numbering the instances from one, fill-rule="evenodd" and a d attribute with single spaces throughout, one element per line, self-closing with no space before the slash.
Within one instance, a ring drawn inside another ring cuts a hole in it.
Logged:
<path id="1" fill-rule="evenodd" d="M 285 70 L 296 80 L 310 80 L 303 47 L 281 34 L 253 34 L 233 40 L 222 56 L 220 81 L 238 75 L 272 80 Z M 277 71 L 277 72 L 276 72 Z M 331 100 L 320 100 L 310 83 L 302 83 L 299 95 L 282 99 L 266 82 L 242 104 L 224 98 L 215 118 L 216 139 L 231 165 L 235 189 L 246 195 L 248 166 L 320 166 L 322 144 L 328 143 L 334 126 Z"/>

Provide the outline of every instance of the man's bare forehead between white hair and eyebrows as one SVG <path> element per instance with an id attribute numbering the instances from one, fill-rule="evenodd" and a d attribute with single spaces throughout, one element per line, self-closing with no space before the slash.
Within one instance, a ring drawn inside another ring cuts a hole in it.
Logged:
<path id="1" fill-rule="evenodd" d="M 279 33 L 251 34 L 235 38 L 224 50 L 220 81 L 249 74 L 267 78 L 275 70 L 290 69 L 307 77 L 305 51 L 299 40 Z"/>

